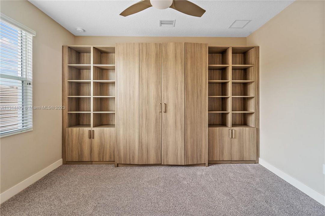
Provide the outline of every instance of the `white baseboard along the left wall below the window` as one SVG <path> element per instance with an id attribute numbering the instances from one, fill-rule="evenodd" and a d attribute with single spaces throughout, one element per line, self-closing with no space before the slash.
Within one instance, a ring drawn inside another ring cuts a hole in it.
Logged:
<path id="1" fill-rule="evenodd" d="M 35 183 L 36 181 L 41 179 L 43 176 L 45 176 L 46 174 L 48 174 L 51 171 L 55 170 L 56 168 L 58 168 L 61 165 L 62 165 L 62 159 L 60 159 L 57 162 L 52 163 L 51 165 L 49 165 L 45 169 L 39 171 L 38 173 L 33 174 L 32 176 L 28 177 L 24 181 L 19 182 L 17 185 L 15 185 L 15 186 L 9 188 L 8 190 L 2 192 L 0 194 L 0 203 L 3 203 L 7 199 L 15 196 L 20 191 L 22 191 L 26 187 L 32 185 L 33 183 Z"/>

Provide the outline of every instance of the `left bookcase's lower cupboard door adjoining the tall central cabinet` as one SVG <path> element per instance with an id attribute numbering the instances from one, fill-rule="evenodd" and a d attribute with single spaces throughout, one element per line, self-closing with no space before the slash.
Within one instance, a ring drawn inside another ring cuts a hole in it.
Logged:
<path id="1" fill-rule="evenodd" d="M 93 128 L 91 140 L 92 161 L 114 161 L 115 128 Z"/>

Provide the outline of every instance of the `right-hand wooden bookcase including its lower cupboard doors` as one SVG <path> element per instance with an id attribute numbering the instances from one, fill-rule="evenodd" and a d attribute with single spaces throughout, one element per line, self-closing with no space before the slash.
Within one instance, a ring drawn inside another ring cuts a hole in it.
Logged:
<path id="1" fill-rule="evenodd" d="M 209 162 L 258 162 L 259 47 L 208 52 Z"/>

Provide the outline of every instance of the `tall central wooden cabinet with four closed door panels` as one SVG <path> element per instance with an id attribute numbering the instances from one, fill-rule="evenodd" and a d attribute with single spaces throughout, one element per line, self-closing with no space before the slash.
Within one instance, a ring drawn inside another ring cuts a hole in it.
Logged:
<path id="1" fill-rule="evenodd" d="M 116 165 L 207 164 L 206 54 L 206 44 L 116 44 Z"/>

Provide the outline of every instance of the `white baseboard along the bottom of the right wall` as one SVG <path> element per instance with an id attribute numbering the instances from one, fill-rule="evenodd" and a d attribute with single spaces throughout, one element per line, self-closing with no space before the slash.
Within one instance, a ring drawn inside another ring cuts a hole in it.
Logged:
<path id="1" fill-rule="evenodd" d="M 276 174 L 280 178 L 282 178 L 284 181 L 288 182 L 292 186 L 298 188 L 305 194 L 307 194 L 309 197 L 315 199 L 317 202 L 325 206 L 325 196 L 318 193 L 316 190 L 306 186 L 304 183 L 300 182 L 299 180 L 295 179 L 289 174 L 286 174 L 285 172 L 279 170 L 275 166 L 269 164 L 268 162 L 264 161 L 263 159 L 259 158 L 259 164 L 264 166 L 266 169 L 271 171 L 272 173 Z"/>

